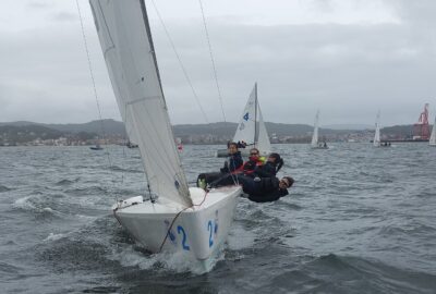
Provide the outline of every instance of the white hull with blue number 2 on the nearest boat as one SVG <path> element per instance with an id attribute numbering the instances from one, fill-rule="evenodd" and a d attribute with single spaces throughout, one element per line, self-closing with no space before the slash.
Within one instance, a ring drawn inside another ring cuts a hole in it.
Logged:
<path id="1" fill-rule="evenodd" d="M 211 189 L 204 197 L 203 189 L 190 187 L 190 193 L 194 205 L 204 200 L 203 204 L 183 210 L 178 204 L 159 199 L 155 204 L 141 203 L 138 196 L 123 201 L 121 207 L 114 205 L 113 213 L 120 224 L 150 252 L 180 252 L 209 270 L 210 259 L 227 238 L 242 189 L 240 186 L 222 187 Z M 138 204 L 130 205 L 137 200 Z"/>

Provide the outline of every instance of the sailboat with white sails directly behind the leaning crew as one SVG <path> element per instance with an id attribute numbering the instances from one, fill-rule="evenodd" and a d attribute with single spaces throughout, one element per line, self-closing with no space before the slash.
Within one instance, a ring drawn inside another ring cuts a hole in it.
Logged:
<path id="1" fill-rule="evenodd" d="M 249 101 L 242 112 L 233 142 L 246 145 L 245 148 L 239 149 L 243 156 L 249 156 L 250 149 L 253 147 L 259 150 L 261 156 L 267 156 L 271 151 L 268 132 L 266 131 L 257 100 L 257 83 L 254 84 Z M 217 157 L 227 157 L 227 149 L 217 150 Z"/>

